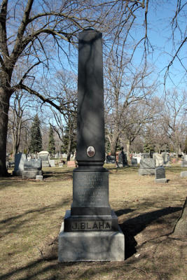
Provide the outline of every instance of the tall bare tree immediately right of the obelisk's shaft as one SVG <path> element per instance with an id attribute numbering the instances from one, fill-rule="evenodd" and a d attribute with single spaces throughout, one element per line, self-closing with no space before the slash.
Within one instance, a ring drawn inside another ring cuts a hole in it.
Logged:
<path id="1" fill-rule="evenodd" d="M 151 98 L 155 87 L 154 83 L 148 82 L 151 71 L 146 66 L 141 70 L 131 69 L 127 62 L 123 62 L 123 54 L 120 58 L 118 55 L 113 57 L 112 63 L 106 73 L 106 136 L 111 154 L 115 155 L 118 139 L 127 127 L 124 118 L 128 116 L 125 113 L 130 111 L 130 106 L 133 108 L 133 104 L 135 106 Z"/>

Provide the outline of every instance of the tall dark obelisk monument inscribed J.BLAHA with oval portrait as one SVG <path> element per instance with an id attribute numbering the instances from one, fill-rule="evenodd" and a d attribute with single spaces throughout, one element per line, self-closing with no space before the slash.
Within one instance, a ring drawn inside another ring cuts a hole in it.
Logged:
<path id="1" fill-rule="evenodd" d="M 102 34 L 78 36 L 78 120 L 73 203 L 59 235 L 60 262 L 124 260 L 125 239 L 109 205 L 104 169 Z"/>

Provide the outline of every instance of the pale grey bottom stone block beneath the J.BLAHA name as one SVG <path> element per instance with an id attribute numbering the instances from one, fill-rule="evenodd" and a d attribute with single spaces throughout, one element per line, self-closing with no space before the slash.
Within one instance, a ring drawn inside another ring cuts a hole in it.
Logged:
<path id="1" fill-rule="evenodd" d="M 64 232 L 60 229 L 59 262 L 121 261 L 125 260 L 125 236 L 118 232 Z"/>

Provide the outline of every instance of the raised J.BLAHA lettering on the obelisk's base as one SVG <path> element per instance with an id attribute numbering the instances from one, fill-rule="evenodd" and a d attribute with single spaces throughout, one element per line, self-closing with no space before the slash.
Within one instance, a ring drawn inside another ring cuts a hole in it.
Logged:
<path id="1" fill-rule="evenodd" d="M 111 230 L 111 221 L 71 222 L 71 230 Z"/>

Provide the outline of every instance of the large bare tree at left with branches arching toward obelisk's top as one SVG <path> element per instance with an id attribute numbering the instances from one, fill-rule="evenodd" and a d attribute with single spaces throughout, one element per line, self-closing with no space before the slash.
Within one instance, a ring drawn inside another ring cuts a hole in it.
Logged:
<path id="1" fill-rule="evenodd" d="M 144 1 L 127 1 L 121 18 L 130 18 L 133 10 L 144 8 Z M 119 6 L 121 5 L 121 6 Z M 0 174 L 6 175 L 6 137 L 8 130 L 8 110 L 11 95 L 15 90 L 26 90 L 35 94 L 42 102 L 47 102 L 57 110 L 68 104 L 63 100 L 60 106 L 54 99 L 40 94 L 33 87 L 34 69 L 49 69 L 54 52 L 67 55 L 67 45 L 76 43 L 76 34 L 84 27 L 99 27 L 103 30 L 114 22 L 116 9 L 123 6 L 123 1 L 1 1 L 0 10 Z M 110 15 L 110 16 L 109 16 Z M 109 20 L 106 18 L 109 16 Z M 106 24 L 105 24 L 106 22 Z M 118 17 L 116 15 L 116 22 Z M 121 20 L 122 22 L 122 20 Z M 125 22 L 123 23 L 125 25 Z M 117 26 L 117 25 L 116 25 Z M 112 26 L 109 33 L 115 29 Z M 51 51 L 51 55 L 50 55 Z M 18 83 L 13 83 L 13 75 L 21 61 L 28 65 Z M 31 77 L 32 76 L 32 77 Z"/>

